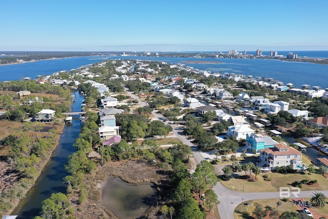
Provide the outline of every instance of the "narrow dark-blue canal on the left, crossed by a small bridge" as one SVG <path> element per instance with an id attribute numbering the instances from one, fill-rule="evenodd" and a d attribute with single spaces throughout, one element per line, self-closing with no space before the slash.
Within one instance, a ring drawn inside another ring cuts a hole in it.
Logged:
<path id="1" fill-rule="evenodd" d="M 81 111 L 83 96 L 78 92 L 74 93 L 75 102 L 72 103 L 72 111 Z M 65 125 L 63 134 L 60 135 L 59 145 L 53 151 L 53 154 L 46 164 L 43 172 L 36 181 L 24 200 L 14 209 L 11 214 L 18 215 L 17 218 L 33 218 L 39 215 L 42 208 L 42 202 L 50 197 L 52 193 L 66 193 L 66 185 L 63 178 L 67 175 L 65 164 L 70 154 L 75 152 L 73 143 L 80 133 L 79 115 L 73 115 L 72 124 Z"/>

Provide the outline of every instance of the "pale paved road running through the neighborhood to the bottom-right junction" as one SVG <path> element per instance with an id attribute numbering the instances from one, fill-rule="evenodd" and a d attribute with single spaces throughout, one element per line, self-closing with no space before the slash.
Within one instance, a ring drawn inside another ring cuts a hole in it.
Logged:
<path id="1" fill-rule="evenodd" d="M 129 95 L 137 99 L 139 101 L 140 105 L 142 107 L 145 107 L 147 104 L 145 102 L 140 101 L 139 97 L 132 94 L 128 90 L 126 90 Z M 160 120 L 163 116 L 156 113 L 155 111 L 152 112 L 152 115 L 154 116 L 155 120 Z M 168 122 L 165 122 L 165 124 L 169 124 Z M 171 125 L 171 124 L 170 124 Z M 171 125 L 172 126 L 172 125 Z M 183 142 L 183 144 L 186 144 L 190 146 L 193 149 L 193 155 L 196 158 L 196 161 L 200 163 L 202 160 L 204 160 L 204 157 L 202 154 L 195 148 L 195 145 L 192 144 L 185 135 L 182 135 L 178 133 L 177 130 L 175 130 L 173 127 L 173 133 Z M 237 192 L 233 191 L 231 189 L 228 189 L 227 187 L 224 187 L 220 182 L 217 183 L 216 186 L 213 187 L 213 191 L 218 196 L 218 200 L 220 201 L 220 204 L 217 205 L 218 211 L 220 214 L 220 219 L 231 219 L 234 218 L 234 210 L 242 202 L 250 201 L 254 199 L 270 199 L 270 198 L 279 198 L 279 192 Z M 328 190 L 322 190 L 322 191 L 301 191 L 298 194 L 299 198 L 303 197 L 311 197 L 313 195 L 313 192 L 322 192 L 325 194 L 326 197 L 328 197 Z M 295 196 L 291 195 L 291 198 L 294 198 Z M 297 197 L 296 197 L 297 198 Z M 271 205 L 273 203 L 262 203 L 262 205 Z"/>

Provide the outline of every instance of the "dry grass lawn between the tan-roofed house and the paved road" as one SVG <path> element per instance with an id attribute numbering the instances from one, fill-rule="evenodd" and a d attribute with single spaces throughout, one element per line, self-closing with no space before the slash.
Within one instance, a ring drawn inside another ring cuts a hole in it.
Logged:
<path id="1" fill-rule="evenodd" d="M 249 171 L 248 171 L 249 174 Z M 243 191 L 244 192 L 272 192 L 272 191 L 279 191 L 279 187 L 290 187 L 294 181 L 301 181 L 301 180 L 317 180 L 318 183 L 312 186 L 302 184 L 301 190 L 327 190 L 328 183 L 327 178 L 323 177 L 321 174 L 312 173 L 309 175 L 307 172 L 305 174 L 300 173 L 267 173 L 271 181 L 264 181 L 263 175 L 265 173 L 261 173 L 257 175 L 258 180 L 256 182 L 248 182 L 241 178 L 239 175 L 235 175 L 235 178 L 231 178 L 229 181 L 222 181 L 222 185 L 226 186 L 229 189 L 236 190 L 236 191 Z M 244 175 L 244 172 L 242 172 Z M 252 175 L 254 175 L 252 173 Z"/>

